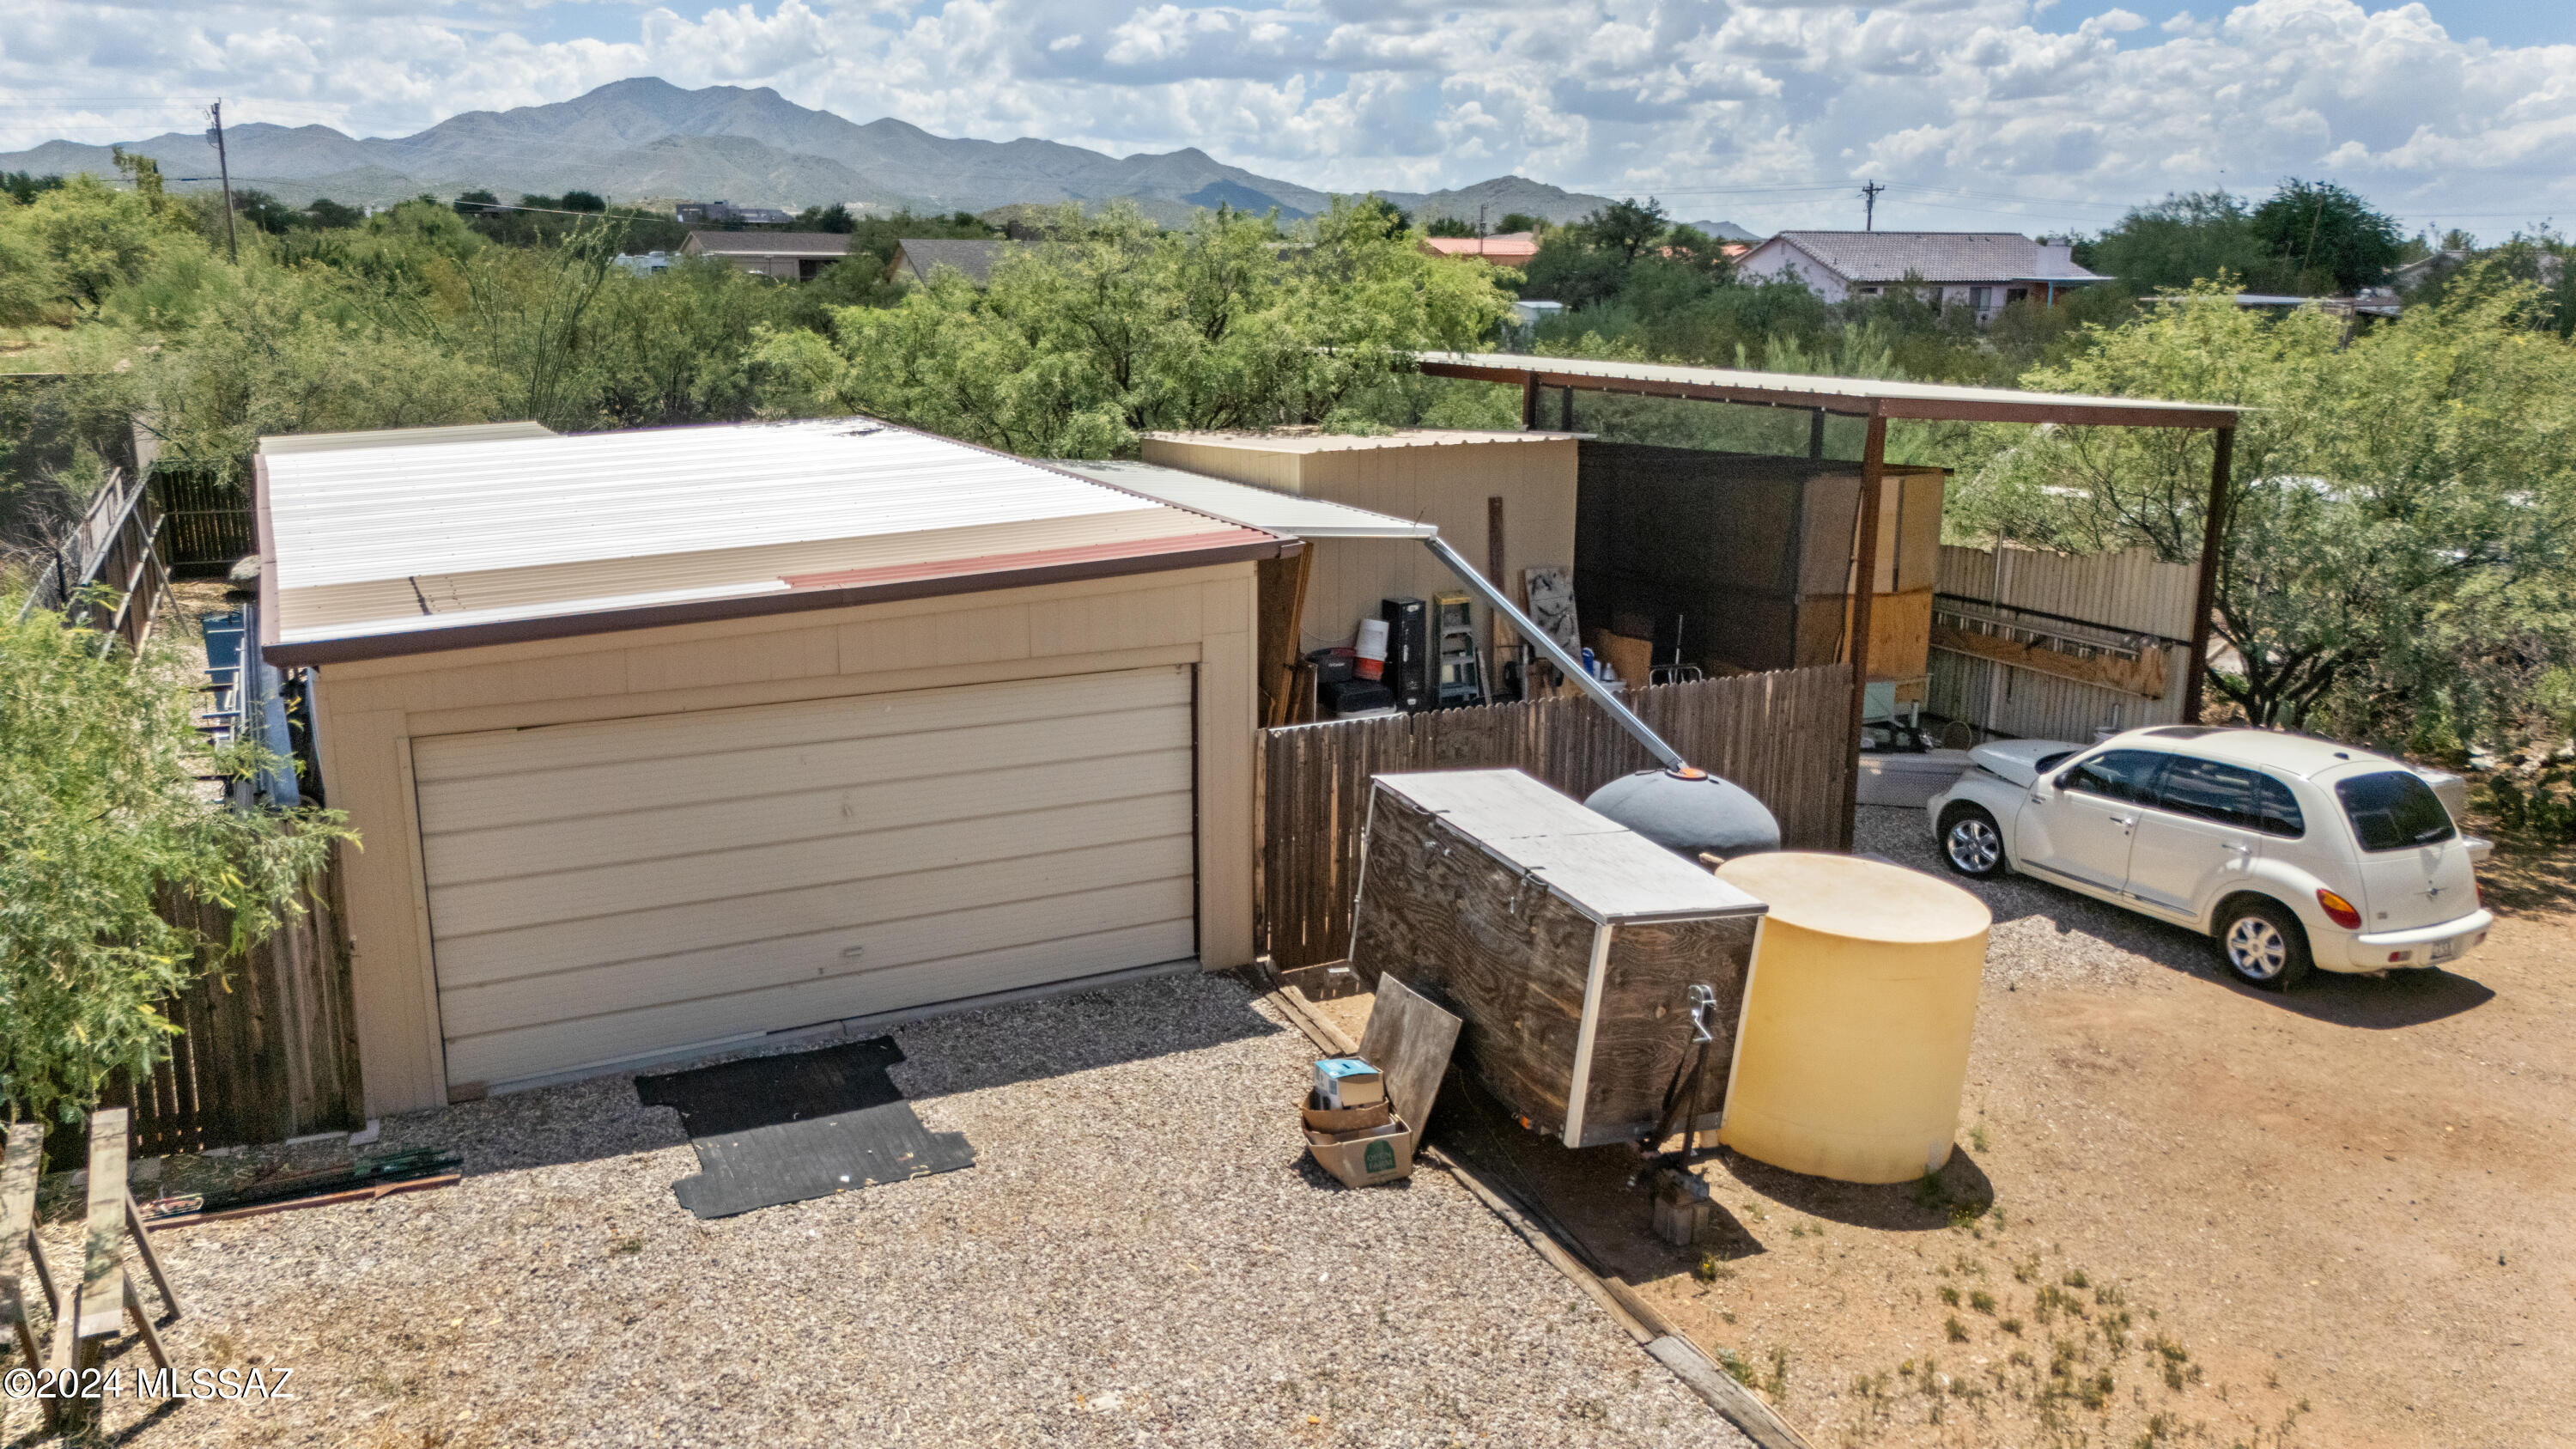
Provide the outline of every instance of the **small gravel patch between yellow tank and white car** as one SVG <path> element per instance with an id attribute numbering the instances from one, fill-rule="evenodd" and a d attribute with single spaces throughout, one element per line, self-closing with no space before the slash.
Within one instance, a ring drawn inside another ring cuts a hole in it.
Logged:
<path id="1" fill-rule="evenodd" d="M 1986 938 L 1989 982 L 2138 985 L 2143 975 L 2154 975 L 2148 967 L 2218 975 L 2210 938 L 2195 931 L 2030 877 L 1971 882 L 1953 874 L 1922 810 L 1862 804 L 1852 825 L 1852 848 L 1932 871 L 1984 900 L 1994 910 L 1994 933 Z"/>

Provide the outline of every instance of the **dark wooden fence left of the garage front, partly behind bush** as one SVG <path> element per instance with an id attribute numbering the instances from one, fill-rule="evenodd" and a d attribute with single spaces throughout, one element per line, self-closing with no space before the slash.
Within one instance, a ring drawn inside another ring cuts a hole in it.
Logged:
<path id="1" fill-rule="evenodd" d="M 301 905 L 247 957 L 162 1003 L 180 1029 L 170 1060 L 100 1098 L 131 1109 L 137 1152 L 283 1142 L 363 1122 L 337 853 Z M 224 910 L 193 900 L 167 900 L 162 915 L 214 941 L 232 933 Z"/>

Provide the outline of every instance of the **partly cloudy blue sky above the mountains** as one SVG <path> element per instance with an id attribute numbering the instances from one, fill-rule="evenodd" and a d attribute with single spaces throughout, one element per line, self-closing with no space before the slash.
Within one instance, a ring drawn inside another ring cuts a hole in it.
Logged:
<path id="1" fill-rule="evenodd" d="M 8 0 L 0 150 L 402 134 L 629 75 L 940 134 L 1200 147 L 1321 188 L 1520 173 L 1754 229 L 2099 229 L 2334 178 L 2409 227 L 2576 222 L 2576 3 Z"/>

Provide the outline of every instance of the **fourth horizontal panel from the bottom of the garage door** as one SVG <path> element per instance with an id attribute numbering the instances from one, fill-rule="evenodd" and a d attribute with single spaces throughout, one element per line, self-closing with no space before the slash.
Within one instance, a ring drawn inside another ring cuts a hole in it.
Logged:
<path id="1" fill-rule="evenodd" d="M 739 895 L 734 874 L 757 877 L 770 890 L 799 890 L 904 871 L 974 866 L 1020 856 L 1051 856 L 1079 846 L 1115 848 L 1172 833 L 1175 812 L 1188 820 L 1188 794 L 1146 794 L 1105 804 L 1069 804 L 1012 817 L 1012 830 L 987 820 L 943 820 L 909 830 L 835 835 L 734 851 L 726 874 L 711 874 L 698 856 L 598 866 L 587 871 L 528 874 L 433 890 L 438 938 L 515 931 L 549 920 L 585 920 Z"/>

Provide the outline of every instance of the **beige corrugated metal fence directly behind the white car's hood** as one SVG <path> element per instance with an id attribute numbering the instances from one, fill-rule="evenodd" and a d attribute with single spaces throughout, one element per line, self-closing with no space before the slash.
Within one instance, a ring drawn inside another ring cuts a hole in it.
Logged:
<path id="1" fill-rule="evenodd" d="M 2184 642 L 2192 637 L 2195 585 L 2197 575 L 2192 565 L 2161 562 L 2151 549 L 2053 554 L 2004 547 L 1999 557 L 1994 549 L 1942 544 L 1942 608 L 2025 624 L 2038 624 L 2035 614 L 2081 621 L 2069 627 L 2069 637 L 2094 632 L 2105 639 L 2151 634 L 2164 645 L 2166 686 L 2164 699 L 2146 699 L 1996 660 L 1932 650 L 1932 688 L 1924 709 L 1945 719 L 1965 719 L 1989 735 L 2074 743 L 2092 740 L 2094 730 L 2179 722 L 2182 688 L 2190 670 Z M 2084 629 L 2084 624 L 2092 629 Z"/>

